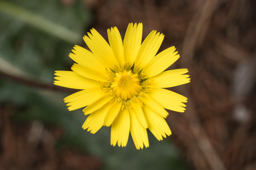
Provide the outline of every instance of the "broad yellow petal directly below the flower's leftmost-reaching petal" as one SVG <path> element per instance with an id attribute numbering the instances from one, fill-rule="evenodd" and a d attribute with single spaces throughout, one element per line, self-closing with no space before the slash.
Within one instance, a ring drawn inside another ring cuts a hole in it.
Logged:
<path id="1" fill-rule="evenodd" d="M 70 106 L 68 109 L 71 111 L 90 105 L 105 93 L 99 87 L 88 88 L 67 96 L 64 101 L 68 103 L 67 106 Z"/>

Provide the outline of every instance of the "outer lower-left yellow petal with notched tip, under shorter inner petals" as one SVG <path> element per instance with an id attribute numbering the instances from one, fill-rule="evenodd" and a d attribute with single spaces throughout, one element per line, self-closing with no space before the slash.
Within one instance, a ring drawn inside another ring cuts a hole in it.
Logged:
<path id="1" fill-rule="evenodd" d="M 107 103 L 97 111 L 91 113 L 83 123 L 82 128 L 88 128 L 87 131 L 91 131 L 92 134 L 96 133 L 103 126 L 106 113 L 110 109 L 110 106 L 111 104 Z"/>

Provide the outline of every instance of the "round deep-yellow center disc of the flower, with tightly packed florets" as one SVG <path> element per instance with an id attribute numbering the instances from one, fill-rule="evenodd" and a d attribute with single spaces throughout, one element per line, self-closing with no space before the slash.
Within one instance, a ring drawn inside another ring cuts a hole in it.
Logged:
<path id="1" fill-rule="evenodd" d="M 116 94 L 117 98 L 122 100 L 131 99 L 132 96 L 138 95 L 138 92 L 142 90 L 141 80 L 138 74 L 134 74 L 132 70 L 123 72 L 119 71 L 115 73 L 111 88 Z"/>

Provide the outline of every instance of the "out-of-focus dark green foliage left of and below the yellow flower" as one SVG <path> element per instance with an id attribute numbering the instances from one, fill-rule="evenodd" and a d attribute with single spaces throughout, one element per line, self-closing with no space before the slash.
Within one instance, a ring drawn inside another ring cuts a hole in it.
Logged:
<path id="1" fill-rule="evenodd" d="M 5 71 L 15 68 L 29 78 L 52 84 L 55 70 L 70 69 L 73 61 L 68 54 L 74 43 L 82 43 L 92 18 L 84 4 L 75 1 L 65 6 L 52 0 L 0 0 L 0 6 L 0 59 L 10 64 Z M 58 30 L 67 32 L 56 34 Z M 14 116 L 17 121 L 39 120 L 47 126 L 65 129 L 65 136 L 56 148 L 74 147 L 99 157 L 103 169 L 186 169 L 169 138 L 158 141 L 148 131 L 150 148 L 138 151 L 131 136 L 127 147 L 112 147 L 110 128 L 103 127 L 94 135 L 82 130 L 86 116 L 81 109 L 67 110 L 63 103 L 67 95 L 0 79 L 0 104 L 23 106 Z"/>

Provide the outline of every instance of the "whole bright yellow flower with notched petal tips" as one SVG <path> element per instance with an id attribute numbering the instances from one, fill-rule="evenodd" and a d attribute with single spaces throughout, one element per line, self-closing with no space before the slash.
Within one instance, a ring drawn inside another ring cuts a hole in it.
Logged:
<path id="1" fill-rule="evenodd" d="M 164 36 L 156 31 L 141 44 L 142 23 L 130 23 L 124 40 L 116 27 L 108 37 L 110 44 L 92 29 L 83 37 L 91 52 L 75 45 L 72 71 L 56 71 L 54 84 L 81 90 L 64 101 L 69 110 L 86 107 L 83 129 L 94 134 L 111 126 L 113 146 L 125 147 L 131 132 L 136 148 L 147 148 L 147 128 L 158 140 L 172 134 L 165 109 L 184 112 L 187 98 L 164 88 L 190 82 L 188 70 L 164 71 L 180 56 L 174 46 L 157 54 Z"/>

